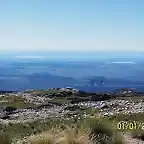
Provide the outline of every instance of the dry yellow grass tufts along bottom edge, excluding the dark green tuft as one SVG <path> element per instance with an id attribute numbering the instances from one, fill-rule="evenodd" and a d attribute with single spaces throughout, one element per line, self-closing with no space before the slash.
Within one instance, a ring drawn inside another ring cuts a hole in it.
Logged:
<path id="1" fill-rule="evenodd" d="M 98 138 L 98 137 L 97 137 Z M 0 136 L 0 144 L 12 144 L 3 136 Z M 16 144 L 16 143 L 13 143 Z M 90 136 L 90 130 L 68 127 L 65 130 L 60 128 L 50 129 L 37 135 L 31 135 L 17 144 L 103 144 L 95 136 Z M 105 141 L 105 144 L 127 144 L 121 135 L 113 135 L 112 139 Z"/>

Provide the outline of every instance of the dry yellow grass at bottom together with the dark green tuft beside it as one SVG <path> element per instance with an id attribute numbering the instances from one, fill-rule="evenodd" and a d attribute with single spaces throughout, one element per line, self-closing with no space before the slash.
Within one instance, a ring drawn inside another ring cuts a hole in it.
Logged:
<path id="1" fill-rule="evenodd" d="M 121 134 L 104 121 L 95 121 L 90 127 L 78 125 L 53 126 L 48 131 L 25 137 L 21 142 L 19 139 L 13 144 L 127 144 Z M 2 138 L 0 144 L 12 144 L 2 141 Z"/>

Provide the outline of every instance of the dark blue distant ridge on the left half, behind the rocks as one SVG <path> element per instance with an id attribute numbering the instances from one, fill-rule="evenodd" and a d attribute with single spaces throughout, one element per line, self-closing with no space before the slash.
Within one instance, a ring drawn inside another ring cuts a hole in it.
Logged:
<path id="1" fill-rule="evenodd" d="M 71 77 L 55 76 L 47 73 L 5 77 L 0 79 L 0 90 L 47 89 L 73 86 L 77 80 Z"/>

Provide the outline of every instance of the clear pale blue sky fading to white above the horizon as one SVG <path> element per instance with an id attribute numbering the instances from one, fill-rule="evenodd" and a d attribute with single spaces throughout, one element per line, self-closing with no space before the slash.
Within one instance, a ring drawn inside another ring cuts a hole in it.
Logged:
<path id="1" fill-rule="evenodd" d="M 1 0 L 2 51 L 144 51 L 143 0 Z"/>

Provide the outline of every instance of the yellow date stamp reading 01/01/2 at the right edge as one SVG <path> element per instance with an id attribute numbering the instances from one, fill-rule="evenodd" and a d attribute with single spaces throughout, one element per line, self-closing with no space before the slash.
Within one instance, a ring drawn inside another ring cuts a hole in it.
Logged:
<path id="1" fill-rule="evenodd" d="M 144 123 L 140 121 L 120 121 L 116 124 L 118 130 L 144 130 Z"/>

